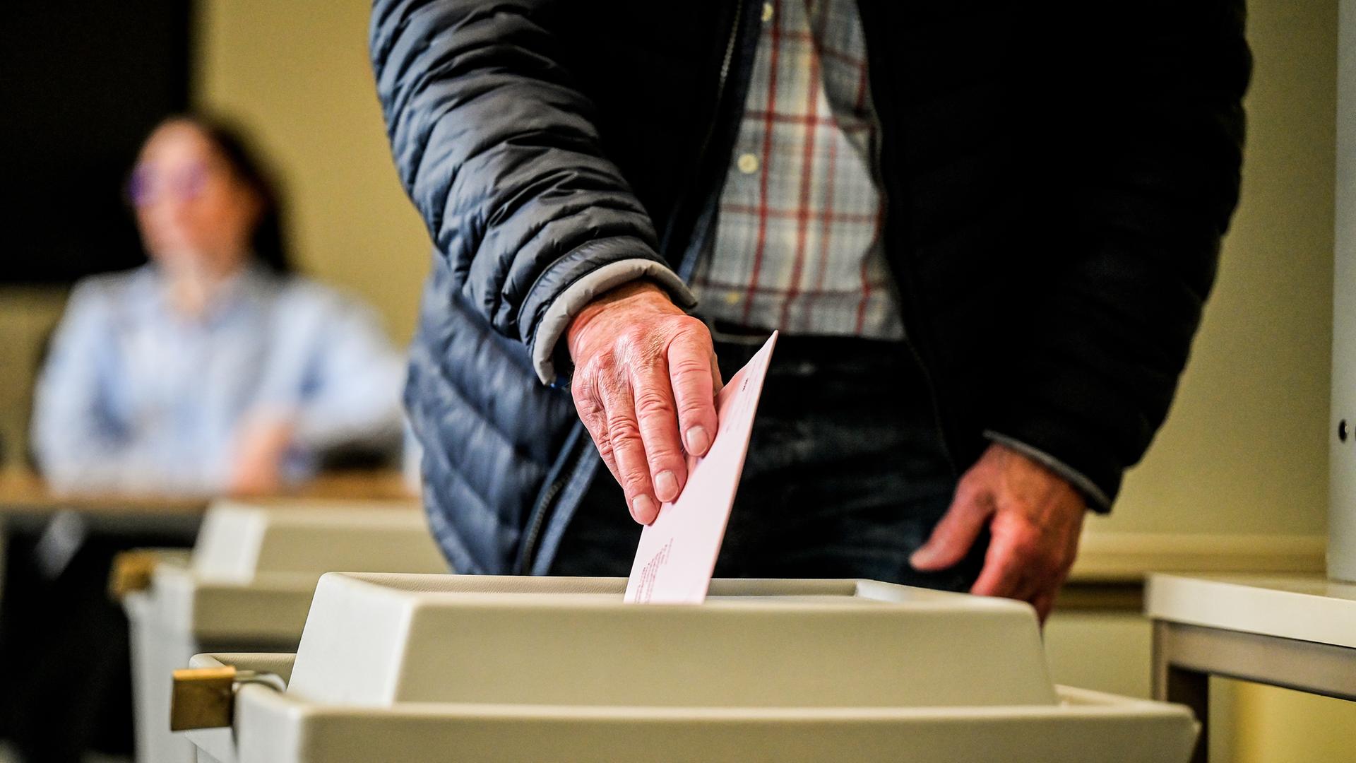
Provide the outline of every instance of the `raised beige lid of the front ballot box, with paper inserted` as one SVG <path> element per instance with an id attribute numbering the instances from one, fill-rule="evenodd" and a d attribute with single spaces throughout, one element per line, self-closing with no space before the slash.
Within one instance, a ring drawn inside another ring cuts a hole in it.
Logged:
<path id="1" fill-rule="evenodd" d="M 865 580 L 716 580 L 624 604 L 624 578 L 321 577 L 289 695 L 654 707 L 1055 705 L 1031 607 Z"/>

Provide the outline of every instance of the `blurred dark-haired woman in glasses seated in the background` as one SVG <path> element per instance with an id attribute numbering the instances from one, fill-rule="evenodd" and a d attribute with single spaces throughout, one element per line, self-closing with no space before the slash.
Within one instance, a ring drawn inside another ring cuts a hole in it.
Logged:
<path id="1" fill-rule="evenodd" d="M 259 493 L 397 449 L 403 361 L 372 312 L 290 274 L 278 200 L 226 126 L 163 122 L 127 183 L 149 262 L 76 285 L 33 440 L 58 489 Z"/>

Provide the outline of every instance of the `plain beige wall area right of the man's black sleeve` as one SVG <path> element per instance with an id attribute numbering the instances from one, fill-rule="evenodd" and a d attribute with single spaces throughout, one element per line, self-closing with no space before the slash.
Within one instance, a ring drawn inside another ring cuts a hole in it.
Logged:
<path id="1" fill-rule="evenodd" d="M 1322 532 L 1336 0 L 1252 0 L 1243 197 L 1168 424 L 1106 529 Z"/>

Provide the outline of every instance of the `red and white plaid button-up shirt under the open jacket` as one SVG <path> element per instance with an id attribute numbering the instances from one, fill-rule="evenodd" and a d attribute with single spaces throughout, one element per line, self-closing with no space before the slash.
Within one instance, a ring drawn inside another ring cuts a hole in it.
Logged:
<path id="1" fill-rule="evenodd" d="M 903 337 L 881 242 L 877 122 L 853 0 L 770 0 L 712 251 L 705 318 Z"/>

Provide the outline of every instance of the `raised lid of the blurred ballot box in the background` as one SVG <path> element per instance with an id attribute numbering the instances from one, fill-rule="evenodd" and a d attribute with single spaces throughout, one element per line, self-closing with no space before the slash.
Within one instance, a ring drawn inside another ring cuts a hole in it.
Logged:
<path id="1" fill-rule="evenodd" d="M 195 577 L 250 581 L 263 573 L 446 572 L 414 501 L 216 501 L 193 550 Z"/>

